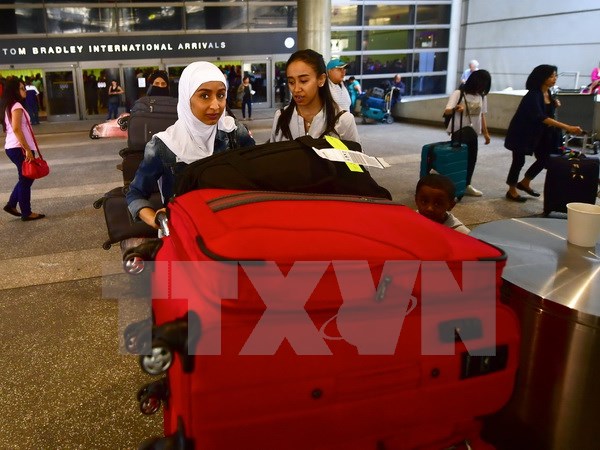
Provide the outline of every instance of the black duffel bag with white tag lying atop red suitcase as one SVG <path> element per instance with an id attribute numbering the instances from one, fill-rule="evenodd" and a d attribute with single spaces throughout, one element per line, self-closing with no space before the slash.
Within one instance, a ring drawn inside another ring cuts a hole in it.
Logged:
<path id="1" fill-rule="evenodd" d="M 342 142 L 349 150 L 362 152 L 357 142 Z M 392 199 L 365 167 L 352 171 L 346 163 L 321 158 L 312 147 L 331 148 L 331 144 L 324 138 L 302 136 L 217 153 L 188 165 L 178 177 L 175 195 L 214 188 Z"/>

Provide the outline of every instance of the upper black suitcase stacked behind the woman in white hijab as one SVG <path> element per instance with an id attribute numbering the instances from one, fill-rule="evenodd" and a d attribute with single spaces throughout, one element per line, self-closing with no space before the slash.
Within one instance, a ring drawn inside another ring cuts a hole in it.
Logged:
<path id="1" fill-rule="evenodd" d="M 129 116 L 127 147 L 143 151 L 154 134 L 166 130 L 176 120 L 176 98 L 145 96 L 138 99 Z"/>

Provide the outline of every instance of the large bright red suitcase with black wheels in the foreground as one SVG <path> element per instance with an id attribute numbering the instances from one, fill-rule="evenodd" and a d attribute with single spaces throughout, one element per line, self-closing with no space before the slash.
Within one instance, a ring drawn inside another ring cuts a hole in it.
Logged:
<path id="1" fill-rule="evenodd" d="M 140 391 L 166 437 L 143 448 L 491 448 L 519 344 L 501 250 L 380 199 L 206 189 L 168 211 L 140 356 L 167 373 Z"/>

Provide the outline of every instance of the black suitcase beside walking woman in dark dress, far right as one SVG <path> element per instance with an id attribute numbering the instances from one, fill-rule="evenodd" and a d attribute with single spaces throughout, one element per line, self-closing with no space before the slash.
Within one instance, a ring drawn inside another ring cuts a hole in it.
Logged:
<path id="1" fill-rule="evenodd" d="M 551 156 L 544 182 L 544 216 L 567 212 L 567 203 L 596 203 L 600 164 L 596 158 Z"/>

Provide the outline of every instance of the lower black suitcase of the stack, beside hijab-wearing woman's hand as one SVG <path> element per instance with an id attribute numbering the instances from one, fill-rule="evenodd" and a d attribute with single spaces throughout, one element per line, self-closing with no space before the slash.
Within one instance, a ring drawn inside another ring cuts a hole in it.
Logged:
<path id="1" fill-rule="evenodd" d="M 127 209 L 126 192 L 127 188 L 116 187 L 94 202 L 94 208 L 104 210 L 104 220 L 108 231 L 108 239 L 102 244 L 102 248 L 105 250 L 108 250 L 112 244 L 125 239 L 157 237 L 157 230 L 144 222 L 133 221 Z M 163 207 L 158 192 L 152 194 L 150 201 L 154 209 Z"/>

